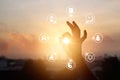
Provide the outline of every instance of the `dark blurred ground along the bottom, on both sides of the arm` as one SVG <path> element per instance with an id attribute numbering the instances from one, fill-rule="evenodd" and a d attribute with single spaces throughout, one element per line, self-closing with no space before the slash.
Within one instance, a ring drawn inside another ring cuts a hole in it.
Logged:
<path id="1" fill-rule="evenodd" d="M 75 74 L 62 63 L 0 58 L 0 80 L 73 80 Z M 120 61 L 117 57 L 99 57 L 87 64 L 98 80 L 120 80 Z M 80 80 L 79 77 L 75 79 Z"/>

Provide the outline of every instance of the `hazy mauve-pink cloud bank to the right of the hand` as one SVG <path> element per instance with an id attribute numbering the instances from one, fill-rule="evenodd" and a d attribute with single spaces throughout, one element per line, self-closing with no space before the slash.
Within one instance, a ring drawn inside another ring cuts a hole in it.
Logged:
<path id="1" fill-rule="evenodd" d="M 94 52 L 96 55 L 119 55 L 120 53 L 120 44 L 118 40 L 114 39 L 114 36 L 110 37 L 108 35 L 103 35 L 103 41 L 101 43 L 96 43 L 94 40 L 89 39 L 83 45 L 84 53 Z M 114 54 L 113 54 L 114 53 Z"/>

